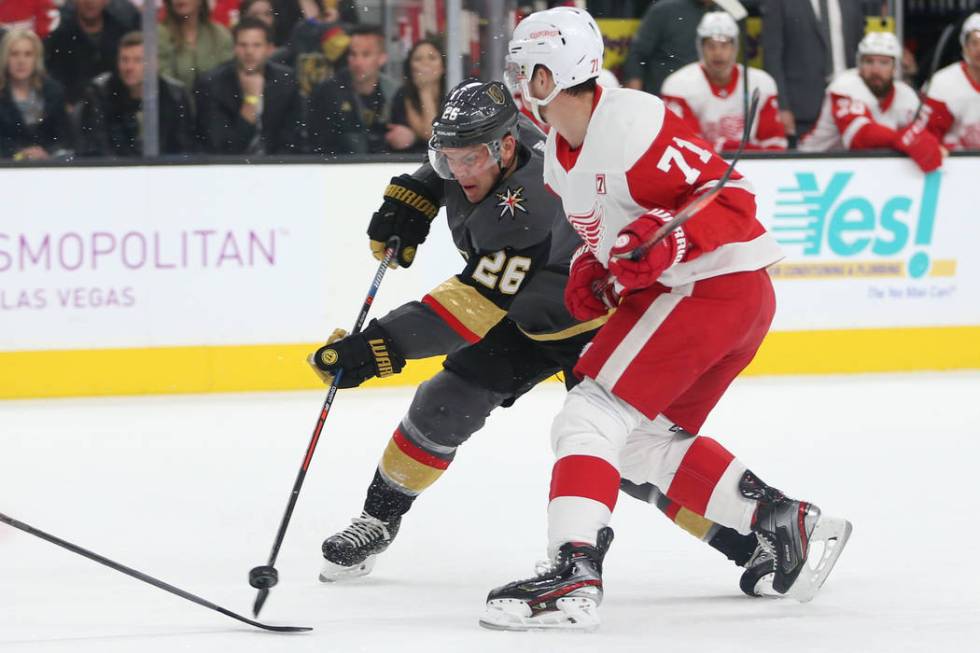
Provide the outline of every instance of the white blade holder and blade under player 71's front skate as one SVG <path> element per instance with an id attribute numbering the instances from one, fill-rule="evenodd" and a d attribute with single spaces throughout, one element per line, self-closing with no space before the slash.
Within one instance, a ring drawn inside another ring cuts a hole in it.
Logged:
<path id="1" fill-rule="evenodd" d="M 490 630 L 577 630 L 592 632 L 599 627 L 599 606 L 590 598 L 573 596 L 555 601 L 555 610 L 532 614 L 518 599 L 494 599 L 480 618 Z"/>

